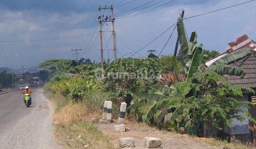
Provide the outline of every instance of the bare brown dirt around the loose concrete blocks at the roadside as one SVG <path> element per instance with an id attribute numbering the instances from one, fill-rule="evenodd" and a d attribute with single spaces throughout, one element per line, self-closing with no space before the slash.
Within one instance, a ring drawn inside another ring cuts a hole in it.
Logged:
<path id="1" fill-rule="evenodd" d="M 198 142 L 196 138 L 187 134 L 177 134 L 170 131 L 159 131 L 156 128 L 149 127 L 143 123 L 125 123 L 126 127 L 130 128 L 128 132 L 114 132 L 116 120 L 111 125 L 98 124 L 98 128 L 110 137 L 110 140 L 115 148 L 118 148 L 118 139 L 122 137 L 133 137 L 135 139 L 135 148 L 144 149 L 144 137 L 156 137 L 162 139 L 163 149 L 214 149 L 202 142 Z M 146 148 L 145 148 L 146 149 Z"/>

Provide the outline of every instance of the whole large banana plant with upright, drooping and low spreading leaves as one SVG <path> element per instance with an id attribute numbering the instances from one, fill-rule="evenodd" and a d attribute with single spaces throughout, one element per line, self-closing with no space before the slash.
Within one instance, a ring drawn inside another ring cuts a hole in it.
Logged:
<path id="1" fill-rule="evenodd" d="M 186 82 L 181 82 L 184 84 L 182 89 L 179 90 L 177 95 L 177 90 L 173 87 L 167 86 L 154 86 L 146 87 L 140 86 L 131 88 L 127 93 L 137 94 L 142 100 L 130 105 L 128 109 L 133 110 L 143 106 L 148 106 L 149 110 L 143 115 L 143 121 L 146 123 L 155 123 L 159 125 L 162 123 L 162 118 L 170 112 L 172 116 L 167 120 L 166 125 L 177 128 L 177 123 L 179 120 L 185 122 L 185 129 L 189 131 L 191 128 L 191 121 L 189 115 L 186 113 L 189 109 L 183 104 L 177 104 L 180 102 L 175 102 L 179 98 L 184 99 L 185 97 L 198 98 L 197 87 L 193 85 L 198 82 L 193 82 L 194 78 L 197 77 L 197 73 L 207 73 L 215 71 L 218 75 L 235 75 L 243 77 L 245 75 L 242 68 L 236 66 L 230 66 L 225 64 L 217 64 L 212 66 L 206 66 L 205 62 L 207 60 L 207 55 L 203 55 L 203 45 L 197 46 L 197 33 L 192 32 L 190 40 L 188 42 L 185 27 L 181 17 L 178 18 L 177 22 L 178 38 L 181 45 L 179 55 L 183 60 L 184 64 L 187 66 Z M 177 78 L 177 82 L 180 81 L 179 74 L 177 72 L 177 65 L 175 57 L 172 57 L 172 66 L 174 67 L 174 73 Z M 198 78 L 196 78 L 198 79 Z M 171 90 L 171 92 L 170 92 Z M 142 92 L 143 91 L 143 92 Z M 169 91 L 169 92 L 166 92 Z M 175 98 L 174 98 L 175 97 Z M 179 98 L 178 98 L 179 97 Z M 152 121 L 153 120 L 153 121 Z"/>

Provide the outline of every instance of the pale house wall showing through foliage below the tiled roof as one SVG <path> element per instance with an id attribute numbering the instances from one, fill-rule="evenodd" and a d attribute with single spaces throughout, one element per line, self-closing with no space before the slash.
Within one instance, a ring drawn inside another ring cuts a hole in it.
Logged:
<path id="1" fill-rule="evenodd" d="M 244 95 L 244 97 L 236 98 L 239 101 L 248 101 L 247 94 Z M 240 107 L 241 110 L 248 111 L 247 107 Z M 242 115 L 242 112 L 240 112 L 238 115 Z M 248 134 L 249 131 L 249 120 L 245 119 L 243 122 L 240 122 L 236 120 L 236 118 L 233 118 L 232 121 L 232 127 L 229 128 L 228 126 L 224 127 L 224 132 L 227 134 L 235 135 L 235 134 Z"/>

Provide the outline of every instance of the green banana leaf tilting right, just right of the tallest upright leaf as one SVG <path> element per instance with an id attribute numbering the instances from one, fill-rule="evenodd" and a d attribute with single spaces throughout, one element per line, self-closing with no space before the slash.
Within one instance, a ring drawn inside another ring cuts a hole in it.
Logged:
<path id="1" fill-rule="evenodd" d="M 200 66 L 200 61 L 202 58 L 202 51 L 203 51 L 202 48 L 203 48 L 203 45 L 200 44 L 197 47 L 196 51 L 194 52 L 191 65 L 187 73 L 187 81 L 190 80 L 191 77 L 193 77 L 193 74 L 198 70 L 198 67 Z"/>

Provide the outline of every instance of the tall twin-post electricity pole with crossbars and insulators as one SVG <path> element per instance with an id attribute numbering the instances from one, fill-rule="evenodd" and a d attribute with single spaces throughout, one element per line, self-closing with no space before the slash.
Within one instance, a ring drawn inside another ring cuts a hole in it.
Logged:
<path id="1" fill-rule="evenodd" d="M 110 9 L 111 15 L 110 16 L 104 16 L 101 15 L 101 9 Z M 117 53 L 116 53 L 116 33 L 114 31 L 114 13 L 113 13 L 113 6 L 111 7 L 99 7 L 98 8 L 98 20 L 100 23 L 100 51 L 101 51 L 101 68 L 104 68 L 103 66 L 103 46 L 102 46 L 102 22 L 112 22 L 112 36 L 113 36 L 113 55 L 114 55 L 114 60 L 117 59 Z"/>

